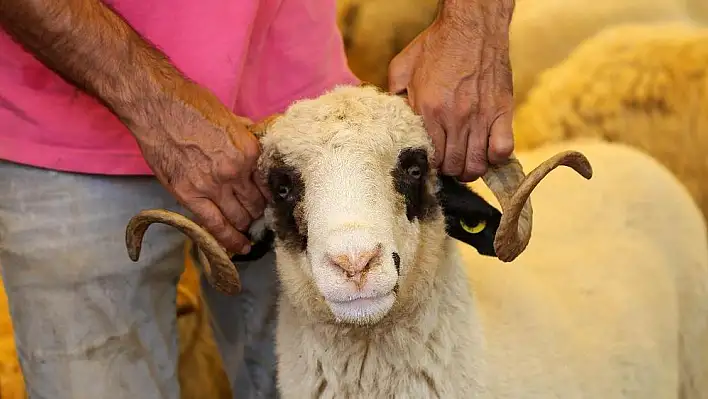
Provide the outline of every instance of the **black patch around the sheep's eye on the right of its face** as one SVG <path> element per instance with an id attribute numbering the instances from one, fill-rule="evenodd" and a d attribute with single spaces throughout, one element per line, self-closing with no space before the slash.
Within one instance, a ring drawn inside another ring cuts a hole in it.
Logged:
<path id="1" fill-rule="evenodd" d="M 438 200 L 430 192 L 428 153 L 423 148 L 406 148 L 398 155 L 398 164 L 391 172 L 396 191 L 406 201 L 406 217 L 425 220 L 438 208 Z"/>

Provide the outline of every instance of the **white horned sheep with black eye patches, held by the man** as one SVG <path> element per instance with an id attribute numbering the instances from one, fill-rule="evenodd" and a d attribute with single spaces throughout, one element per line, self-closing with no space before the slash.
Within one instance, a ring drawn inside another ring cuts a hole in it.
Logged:
<path id="1" fill-rule="evenodd" d="M 593 169 L 567 148 L 527 154 L 538 165 L 527 176 L 516 157 L 492 167 L 483 180 L 502 215 L 488 257 L 446 234 L 432 144 L 404 99 L 339 87 L 253 131 L 274 198 L 265 221 L 276 233 L 282 287 L 283 398 L 708 392 L 696 391 L 708 381 L 697 356 L 705 346 L 696 345 L 706 336 L 705 224 L 683 186 L 650 157 L 575 143 L 599 164 L 598 178 L 584 185 L 559 172 L 555 184 L 534 191 L 545 215 L 526 253 L 532 190 L 559 165 L 586 179 Z M 216 271 L 236 283 L 233 266 L 222 270 L 230 254 L 165 210 L 128 222 L 131 259 L 154 222 L 188 235 L 213 280 Z M 566 297 L 553 302 L 559 295 Z"/>

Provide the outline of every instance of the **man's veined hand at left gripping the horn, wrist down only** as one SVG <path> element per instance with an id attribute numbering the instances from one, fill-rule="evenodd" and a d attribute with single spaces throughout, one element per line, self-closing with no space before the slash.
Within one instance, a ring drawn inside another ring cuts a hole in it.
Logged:
<path id="1" fill-rule="evenodd" d="M 228 250 L 247 253 L 243 234 L 263 213 L 267 189 L 254 171 L 260 154 L 251 122 L 206 89 L 188 84 L 126 125 L 155 176 Z"/>

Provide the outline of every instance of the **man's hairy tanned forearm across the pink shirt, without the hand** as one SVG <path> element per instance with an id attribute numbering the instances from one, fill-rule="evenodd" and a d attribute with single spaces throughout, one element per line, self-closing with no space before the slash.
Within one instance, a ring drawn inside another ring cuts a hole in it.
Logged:
<path id="1" fill-rule="evenodd" d="M 100 0 L 0 0 L 0 26 L 121 118 L 185 78 Z"/>

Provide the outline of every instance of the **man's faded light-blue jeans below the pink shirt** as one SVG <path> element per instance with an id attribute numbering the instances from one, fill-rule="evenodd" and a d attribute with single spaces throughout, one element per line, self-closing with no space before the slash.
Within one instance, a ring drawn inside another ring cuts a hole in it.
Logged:
<path id="1" fill-rule="evenodd" d="M 31 399 L 178 399 L 176 286 L 185 237 L 141 209 L 187 214 L 152 177 L 60 173 L 0 161 L 0 266 Z M 201 280 L 234 397 L 275 394 L 275 258 L 241 265 L 233 297 Z"/>

